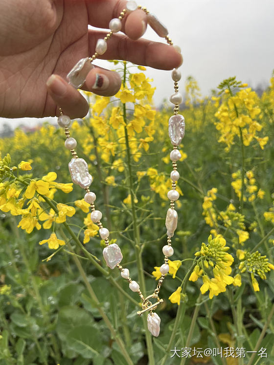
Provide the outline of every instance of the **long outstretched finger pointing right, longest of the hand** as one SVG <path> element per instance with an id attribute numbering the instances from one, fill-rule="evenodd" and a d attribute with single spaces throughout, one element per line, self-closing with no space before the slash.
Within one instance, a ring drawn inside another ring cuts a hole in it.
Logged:
<path id="1" fill-rule="evenodd" d="M 130 14 L 130 15 L 133 15 Z M 89 44 L 91 53 L 95 49 L 99 38 L 104 38 L 105 32 L 89 30 Z M 92 56 L 90 54 L 90 56 Z M 108 40 L 107 51 L 100 56 L 105 60 L 126 60 L 137 65 L 159 69 L 178 68 L 183 63 L 183 57 L 175 47 L 163 43 L 152 42 L 146 39 L 133 41 L 127 36 L 114 34 Z"/>

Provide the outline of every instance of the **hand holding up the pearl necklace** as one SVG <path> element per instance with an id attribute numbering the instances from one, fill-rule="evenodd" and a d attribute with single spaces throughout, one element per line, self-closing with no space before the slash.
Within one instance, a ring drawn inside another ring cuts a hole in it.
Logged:
<path id="1" fill-rule="evenodd" d="M 105 32 L 88 29 L 88 24 L 108 28 L 125 4 L 124 0 L 1 0 L 0 116 L 54 116 L 57 105 L 71 118 L 85 116 L 89 106 L 65 81 L 66 75 L 79 59 L 94 53 L 98 38 L 105 37 Z M 182 64 L 173 47 L 139 39 L 147 25 L 142 10 L 126 14 L 122 24 L 126 35 L 114 34 L 99 58 L 160 69 Z M 99 88 L 96 74 L 103 75 Z M 118 73 L 96 67 L 83 89 L 111 96 L 120 86 Z"/>

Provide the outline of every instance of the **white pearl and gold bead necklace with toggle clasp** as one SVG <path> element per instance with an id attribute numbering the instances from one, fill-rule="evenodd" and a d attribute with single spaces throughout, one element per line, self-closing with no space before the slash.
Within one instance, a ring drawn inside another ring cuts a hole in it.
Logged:
<path id="1" fill-rule="evenodd" d="M 102 55 L 107 50 L 107 41 L 112 37 L 113 33 L 116 33 L 121 30 L 122 23 L 121 20 L 124 18 L 125 14 L 128 12 L 135 11 L 137 9 L 141 9 L 147 15 L 148 24 L 152 27 L 152 29 L 161 37 L 165 38 L 167 43 L 170 46 L 173 46 L 171 39 L 168 37 L 167 28 L 160 23 L 160 21 L 156 18 L 156 16 L 149 13 L 149 11 L 142 6 L 138 6 L 135 1 L 128 1 L 126 4 L 126 8 L 123 9 L 118 18 L 114 18 L 110 21 L 109 27 L 110 32 L 107 33 L 104 39 L 98 39 L 95 53 L 92 57 L 83 58 L 77 62 L 77 64 L 71 69 L 68 73 L 69 83 L 75 87 L 76 89 L 81 88 L 84 84 L 87 74 L 89 71 L 94 68 L 91 64 L 93 60 L 97 58 L 98 55 Z M 177 46 L 175 46 L 177 47 Z M 60 116 L 58 118 L 58 124 L 65 129 L 66 141 L 65 147 L 70 150 L 72 154 L 72 159 L 68 163 L 69 172 L 71 175 L 72 182 L 78 184 L 81 188 L 86 190 L 86 194 L 84 196 L 84 200 L 91 205 L 91 221 L 96 223 L 99 227 L 99 234 L 101 238 L 105 241 L 106 247 L 103 250 L 103 256 L 106 261 L 106 264 L 109 268 L 114 269 L 118 268 L 121 272 L 121 276 L 129 282 L 129 288 L 133 292 L 137 292 L 142 301 L 142 310 L 137 312 L 137 315 L 141 316 L 144 312 L 149 311 L 149 315 L 147 317 L 148 329 L 153 336 L 159 336 L 160 333 L 160 317 L 157 313 L 153 312 L 157 306 L 163 302 L 163 299 L 160 299 L 160 287 L 163 283 L 165 275 L 169 271 L 168 265 L 168 257 L 172 256 L 174 251 L 171 246 L 171 237 L 174 235 L 174 231 L 177 228 L 177 220 L 178 214 L 174 209 L 175 201 L 179 199 L 179 192 L 176 190 L 176 183 L 180 178 L 180 174 L 177 171 L 177 161 L 181 159 L 181 153 L 178 150 L 178 146 L 182 142 L 184 137 L 184 118 L 183 115 L 178 114 L 179 105 L 182 103 L 182 95 L 178 92 L 178 81 L 181 79 L 181 72 L 174 68 L 172 71 L 172 79 L 174 81 L 174 90 L 175 92 L 170 96 L 170 101 L 175 105 L 174 114 L 170 117 L 168 123 L 168 132 L 170 141 L 173 145 L 173 150 L 170 152 L 170 160 L 172 161 L 173 170 L 170 174 L 170 179 L 172 181 L 172 189 L 168 191 L 167 197 L 170 200 L 170 208 L 167 210 L 165 226 L 167 228 L 167 244 L 163 246 L 162 252 L 164 254 L 164 264 L 160 267 L 161 277 L 158 281 L 158 285 L 153 294 L 148 297 L 144 297 L 142 292 L 140 291 L 139 284 L 132 280 L 130 277 L 129 270 L 127 268 L 123 268 L 120 265 L 122 261 L 123 255 L 116 243 L 109 243 L 109 230 L 104 228 L 101 219 L 102 213 L 100 210 L 95 209 L 94 201 L 96 199 L 96 195 L 90 191 L 90 185 L 92 183 L 92 176 L 89 173 L 88 164 L 85 160 L 78 157 L 75 148 L 77 146 L 77 142 L 74 138 L 70 137 L 69 133 L 69 125 L 70 118 L 67 115 L 63 114 L 63 111 L 60 109 Z M 156 300 L 155 303 L 152 303 L 152 299 Z"/>

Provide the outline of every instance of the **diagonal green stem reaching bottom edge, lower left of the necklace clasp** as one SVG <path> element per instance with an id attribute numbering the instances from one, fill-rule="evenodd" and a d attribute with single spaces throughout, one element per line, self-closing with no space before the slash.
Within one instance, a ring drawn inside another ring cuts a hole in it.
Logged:
<path id="1" fill-rule="evenodd" d="M 64 238 L 67 240 L 67 237 L 64 235 Z M 73 249 L 72 249 L 72 246 L 70 245 L 70 243 L 67 241 L 67 245 L 68 245 L 68 248 L 71 252 L 74 252 Z M 115 341 L 117 342 L 117 345 L 119 346 L 125 360 L 127 361 L 128 364 L 130 365 L 134 365 L 127 350 L 126 350 L 126 347 L 125 347 L 125 344 L 124 342 L 121 340 L 119 334 L 114 330 L 113 328 L 113 325 L 111 323 L 111 321 L 109 320 L 109 318 L 107 317 L 106 313 L 104 312 L 104 310 L 102 309 L 102 306 L 100 305 L 100 302 L 98 300 L 98 298 L 96 297 L 96 294 L 94 293 L 92 287 L 91 287 L 91 284 L 87 278 L 87 275 L 83 269 L 83 266 L 81 265 L 81 262 L 80 260 L 78 259 L 78 257 L 76 255 L 73 255 L 73 260 L 84 280 L 84 283 L 86 285 L 86 288 L 88 289 L 88 292 L 92 298 L 92 300 L 96 303 L 96 307 L 98 309 L 98 312 L 100 313 L 102 319 L 104 320 L 104 322 L 106 323 L 107 327 L 109 328 L 112 336 L 114 337 Z"/>

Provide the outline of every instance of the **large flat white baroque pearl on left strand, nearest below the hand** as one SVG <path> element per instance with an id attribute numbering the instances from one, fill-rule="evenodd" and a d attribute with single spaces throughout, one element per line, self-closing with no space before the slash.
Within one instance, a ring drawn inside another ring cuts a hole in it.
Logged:
<path id="1" fill-rule="evenodd" d="M 92 176 L 89 174 L 89 167 L 84 159 L 72 158 L 68 163 L 71 180 L 82 189 L 89 187 L 92 183 Z"/>

